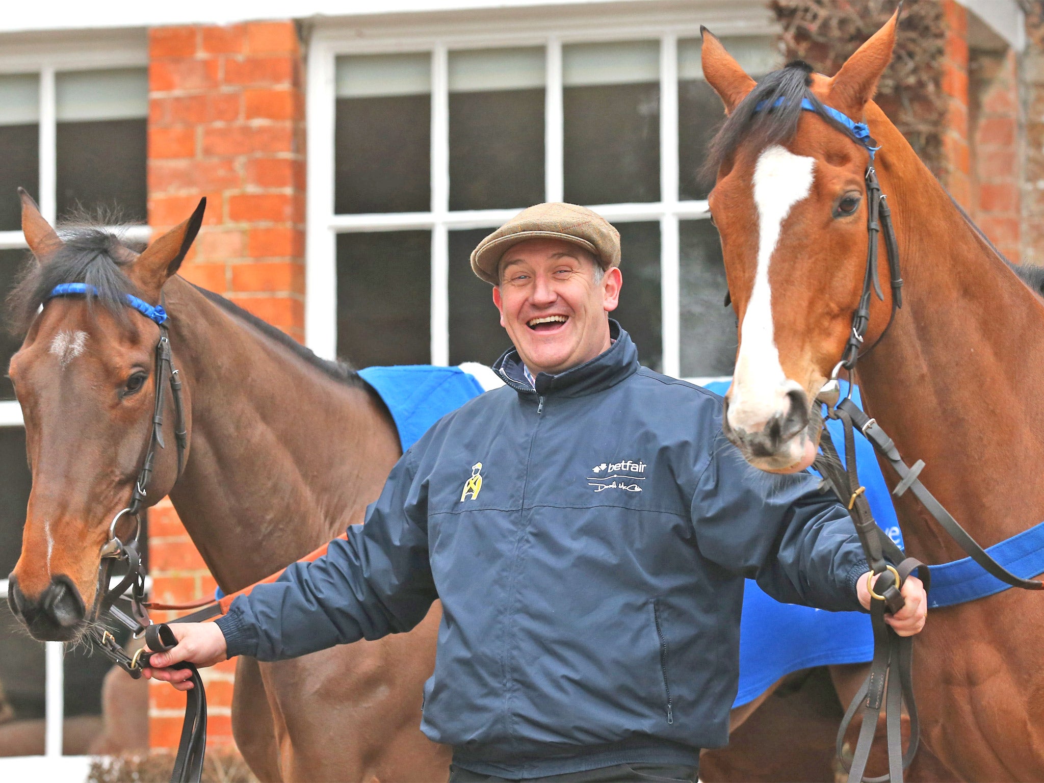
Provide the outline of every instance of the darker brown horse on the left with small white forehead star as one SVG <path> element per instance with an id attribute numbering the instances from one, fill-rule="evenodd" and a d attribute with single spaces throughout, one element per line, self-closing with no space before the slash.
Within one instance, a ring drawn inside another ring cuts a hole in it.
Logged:
<path id="1" fill-rule="evenodd" d="M 148 442 L 159 330 L 124 306 L 125 293 L 167 311 L 186 399 L 184 472 L 175 480 L 174 449 L 160 450 L 149 502 L 169 494 L 226 592 L 361 522 L 401 454 L 387 409 L 354 371 L 176 274 L 200 219 L 139 255 L 103 230 L 63 239 L 23 196 L 37 264 L 10 300 L 25 339 L 9 374 L 33 482 L 10 602 L 38 639 L 75 640 L 89 627 L 109 521 L 126 506 Z M 84 282 L 97 296 L 48 301 L 55 285 Z M 445 780 L 449 749 L 419 728 L 440 617 L 436 603 L 407 634 L 278 663 L 240 658 L 232 722 L 251 768 L 272 781 Z M 733 728 L 774 689 L 735 709 Z M 802 764 L 773 768 L 796 780 Z"/>

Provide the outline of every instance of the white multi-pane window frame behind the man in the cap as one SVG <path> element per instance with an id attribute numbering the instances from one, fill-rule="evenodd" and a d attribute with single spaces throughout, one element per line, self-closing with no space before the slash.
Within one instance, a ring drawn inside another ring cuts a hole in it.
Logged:
<path id="1" fill-rule="evenodd" d="M 657 4 L 659 5 L 659 4 Z M 580 9 L 512 9 L 438 15 L 424 24 L 374 20 L 317 26 L 308 49 L 308 210 L 305 340 L 325 358 L 337 350 L 336 237 L 352 232 L 431 231 L 432 364 L 449 363 L 449 241 L 451 229 L 495 229 L 518 212 L 449 209 L 448 54 L 455 49 L 541 46 L 546 52 L 545 185 L 547 201 L 563 200 L 562 47 L 612 41 L 660 43 L 660 196 L 645 204 L 589 205 L 611 221 L 659 221 L 663 371 L 681 374 L 680 221 L 708 216 L 706 200 L 680 200 L 678 41 L 697 38 L 701 24 L 719 35 L 772 34 L 778 27 L 761 3 L 701 0 L 684 9 L 619 3 L 597 15 Z M 549 17 L 551 17 L 549 19 Z M 334 212 L 336 58 L 348 54 L 430 52 L 431 207 L 427 212 L 338 215 Z"/>

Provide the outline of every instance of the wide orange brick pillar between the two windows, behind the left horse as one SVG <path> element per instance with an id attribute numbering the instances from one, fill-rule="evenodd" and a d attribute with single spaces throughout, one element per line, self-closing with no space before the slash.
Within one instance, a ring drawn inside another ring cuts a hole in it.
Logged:
<path id="1" fill-rule="evenodd" d="M 303 63 L 292 21 L 149 31 L 149 223 L 207 215 L 182 276 L 304 338 Z M 214 582 L 169 501 L 150 515 L 157 600 L 213 595 Z M 158 618 L 159 619 L 159 618 Z M 233 667 L 205 674 L 208 742 L 232 742 Z M 150 690 L 150 741 L 176 745 L 184 697 Z"/>

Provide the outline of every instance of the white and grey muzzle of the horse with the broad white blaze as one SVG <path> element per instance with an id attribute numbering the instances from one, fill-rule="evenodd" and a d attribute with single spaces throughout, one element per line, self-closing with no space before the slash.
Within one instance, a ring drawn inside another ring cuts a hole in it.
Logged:
<path id="1" fill-rule="evenodd" d="M 818 421 L 812 420 L 810 410 L 808 395 L 792 381 L 756 404 L 733 400 L 730 389 L 721 430 L 755 468 L 797 473 L 815 458 Z"/>

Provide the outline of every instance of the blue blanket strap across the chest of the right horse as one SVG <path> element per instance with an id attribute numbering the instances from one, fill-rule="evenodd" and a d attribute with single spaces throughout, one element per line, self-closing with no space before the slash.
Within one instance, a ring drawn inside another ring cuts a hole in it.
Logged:
<path id="1" fill-rule="evenodd" d="M 1016 576 L 1024 579 L 1038 576 L 1044 573 L 1044 522 L 987 547 L 986 551 Z M 1012 589 L 971 557 L 928 566 L 928 570 L 931 572 L 929 609 L 967 603 Z"/>

